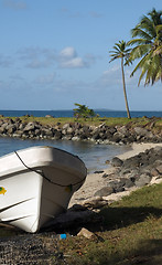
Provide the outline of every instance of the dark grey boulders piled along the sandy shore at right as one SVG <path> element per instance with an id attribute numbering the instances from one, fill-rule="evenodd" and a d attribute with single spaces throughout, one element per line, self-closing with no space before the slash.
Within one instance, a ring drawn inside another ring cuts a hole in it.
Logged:
<path id="1" fill-rule="evenodd" d="M 96 191 L 95 197 L 108 197 L 162 181 L 162 147 L 156 146 L 126 160 L 115 157 L 111 166 L 112 172 L 102 174 L 106 186 Z"/>

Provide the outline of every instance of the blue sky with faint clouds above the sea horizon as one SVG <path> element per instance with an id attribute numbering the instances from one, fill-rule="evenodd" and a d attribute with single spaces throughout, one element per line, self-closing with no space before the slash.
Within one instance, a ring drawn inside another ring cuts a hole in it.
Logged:
<path id="1" fill-rule="evenodd" d="M 125 109 L 109 51 L 152 8 L 161 0 L 0 0 L 0 109 Z M 161 82 L 138 87 L 131 70 L 130 110 L 162 110 Z"/>

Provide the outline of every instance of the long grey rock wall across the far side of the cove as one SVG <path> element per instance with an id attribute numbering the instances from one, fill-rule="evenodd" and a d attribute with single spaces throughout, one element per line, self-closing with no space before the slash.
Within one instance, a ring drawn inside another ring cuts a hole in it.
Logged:
<path id="1" fill-rule="evenodd" d="M 152 125 L 152 124 L 151 124 Z M 162 131 L 154 132 L 152 127 L 132 126 L 99 126 L 69 123 L 62 125 L 42 125 L 39 121 L 22 121 L 21 118 L 1 118 L 0 136 L 22 139 L 66 139 L 88 140 L 97 144 L 131 144 L 131 142 L 161 142 Z"/>

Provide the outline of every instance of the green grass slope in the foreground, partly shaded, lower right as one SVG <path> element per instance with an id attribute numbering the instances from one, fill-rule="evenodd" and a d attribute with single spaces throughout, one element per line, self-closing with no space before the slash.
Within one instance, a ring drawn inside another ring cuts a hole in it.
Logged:
<path id="1" fill-rule="evenodd" d="M 104 208 L 96 237 L 68 237 L 60 242 L 67 264 L 162 264 L 162 184 L 142 188 Z"/>

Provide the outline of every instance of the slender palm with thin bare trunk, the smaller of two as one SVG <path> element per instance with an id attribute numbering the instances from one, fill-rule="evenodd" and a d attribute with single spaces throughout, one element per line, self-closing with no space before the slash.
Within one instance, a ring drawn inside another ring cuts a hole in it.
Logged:
<path id="1" fill-rule="evenodd" d="M 122 85 L 123 85 L 123 95 L 125 95 L 125 102 L 126 102 L 126 109 L 127 109 L 127 116 L 128 118 L 131 118 L 130 112 L 129 112 L 129 106 L 128 106 L 128 99 L 127 99 L 127 92 L 126 92 L 126 82 L 125 82 L 125 71 L 123 71 L 123 63 L 125 61 L 127 62 L 129 54 L 130 54 L 130 49 L 127 49 L 128 44 L 125 41 L 119 41 L 119 43 L 115 43 L 114 51 L 110 51 L 111 53 L 111 60 L 112 62 L 116 59 L 121 59 L 121 71 L 122 71 Z M 110 63 L 109 62 L 109 63 Z"/>

